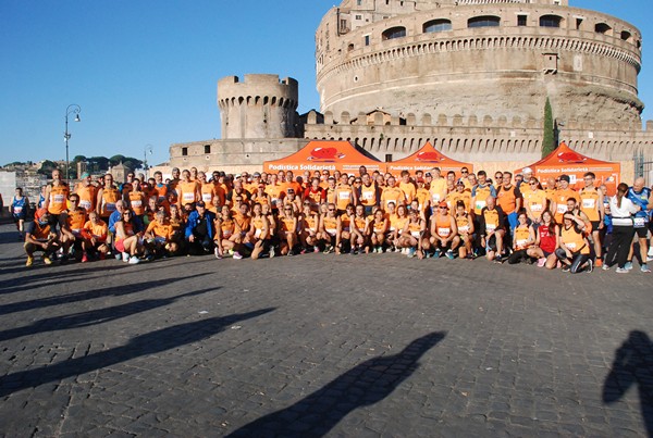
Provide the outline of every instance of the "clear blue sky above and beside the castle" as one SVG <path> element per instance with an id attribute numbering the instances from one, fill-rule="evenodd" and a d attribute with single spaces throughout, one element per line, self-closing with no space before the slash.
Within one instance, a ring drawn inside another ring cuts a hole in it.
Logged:
<path id="1" fill-rule="evenodd" d="M 0 0 L 0 165 L 114 154 L 168 161 L 174 142 L 220 138 L 219 78 L 299 80 L 299 113 L 319 108 L 315 30 L 338 0 Z M 653 108 L 652 0 L 570 0 L 643 34 L 640 99 Z M 643 120 L 653 118 L 651 108 Z"/>

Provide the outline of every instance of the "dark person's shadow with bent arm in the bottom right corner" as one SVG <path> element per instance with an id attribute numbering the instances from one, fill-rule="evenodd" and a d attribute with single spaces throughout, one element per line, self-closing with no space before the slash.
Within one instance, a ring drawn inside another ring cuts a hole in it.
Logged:
<path id="1" fill-rule="evenodd" d="M 653 342 L 632 330 L 615 352 L 613 367 L 603 384 L 603 402 L 614 403 L 637 385 L 646 434 L 653 437 Z"/>

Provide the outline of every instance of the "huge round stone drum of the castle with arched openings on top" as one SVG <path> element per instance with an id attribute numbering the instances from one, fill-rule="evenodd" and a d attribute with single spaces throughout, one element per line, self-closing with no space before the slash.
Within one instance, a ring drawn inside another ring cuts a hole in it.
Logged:
<path id="1" fill-rule="evenodd" d="M 322 112 L 641 123 L 641 35 L 567 0 L 344 0 L 316 33 Z"/>

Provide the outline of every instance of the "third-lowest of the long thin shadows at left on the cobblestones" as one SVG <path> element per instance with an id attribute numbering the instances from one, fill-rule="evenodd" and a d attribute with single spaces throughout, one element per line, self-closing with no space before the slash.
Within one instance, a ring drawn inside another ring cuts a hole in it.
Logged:
<path id="1" fill-rule="evenodd" d="M 187 277 L 180 277 L 180 278 L 165 278 L 165 279 L 158 279 L 158 280 L 143 281 L 143 283 L 130 283 L 130 284 L 121 285 L 121 286 L 109 286 L 106 288 L 85 290 L 82 292 L 73 292 L 73 293 L 60 295 L 60 296 L 54 296 L 54 297 L 46 297 L 46 298 L 38 298 L 38 299 L 34 299 L 34 300 L 28 300 L 28 301 L 14 302 L 14 303 L 10 303 L 10 304 L 2 304 L 2 305 L 0 305 L 0 315 L 5 315 L 8 313 L 14 313 L 14 312 L 23 312 L 23 311 L 33 310 L 33 309 L 47 308 L 47 306 L 51 306 L 51 305 L 66 304 L 66 303 L 71 303 L 71 302 L 91 300 L 94 298 L 100 298 L 100 297 L 106 297 L 106 296 L 120 297 L 120 296 L 130 295 L 130 293 L 143 292 L 144 290 L 147 290 L 147 289 L 151 289 L 151 288 L 156 288 L 156 287 L 160 287 L 160 286 L 167 286 L 167 285 L 170 285 L 175 281 L 183 281 L 187 278 L 196 279 L 202 275 L 208 275 L 208 274 L 195 274 L 195 275 L 190 275 Z"/>

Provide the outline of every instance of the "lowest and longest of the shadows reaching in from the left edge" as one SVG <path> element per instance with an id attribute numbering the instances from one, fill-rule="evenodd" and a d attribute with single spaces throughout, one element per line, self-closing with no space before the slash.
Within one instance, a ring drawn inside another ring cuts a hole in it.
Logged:
<path id="1" fill-rule="evenodd" d="M 207 339 L 239 321 L 249 320 L 274 311 L 261 309 L 248 313 L 211 317 L 162 328 L 132 339 L 127 345 L 27 371 L 8 374 L 0 378 L 0 397 L 25 388 L 35 388 L 50 381 L 89 373 L 143 355 L 159 353 L 187 343 Z"/>

